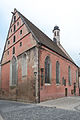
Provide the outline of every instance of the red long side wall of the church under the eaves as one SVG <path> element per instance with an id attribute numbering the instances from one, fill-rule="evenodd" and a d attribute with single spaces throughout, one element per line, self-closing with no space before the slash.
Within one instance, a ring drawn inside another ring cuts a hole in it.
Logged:
<path id="1" fill-rule="evenodd" d="M 50 57 L 51 62 L 51 83 L 45 84 L 45 58 L 46 56 Z M 60 84 L 56 84 L 56 61 L 60 63 Z M 68 83 L 68 66 L 71 67 L 71 79 L 72 85 L 69 86 Z M 40 69 L 43 68 L 43 86 L 41 86 L 41 77 L 40 77 L 40 101 L 44 101 L 47 99 L 64 97 L 65 96 L 65 88 L 67 88 L 67 96 L 73 96 L 74 91 L 74 83 L 76 83 L 76 70 L 78 68 L 69 62 L 68 60 L 62 58 L 56 53 L 50 51 L 49 49 L 42 47 L 40 50 Z M 41 73 L 40 73 L 41 76 Z M 62 78 L 66 80 L 66 86 L 62 83 Z M 76 84 L 76 95 L 79 95 L 78 84 Z M 71 93 L 72 92 L 72 93 Z"/>

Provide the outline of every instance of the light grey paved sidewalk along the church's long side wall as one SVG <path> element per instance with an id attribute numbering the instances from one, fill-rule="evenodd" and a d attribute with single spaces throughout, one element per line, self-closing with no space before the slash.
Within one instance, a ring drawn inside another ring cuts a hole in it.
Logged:
<path id="1" fill-rule="evenodd" d="M 55 107 L 65 110 L 79 110 L 80 111 L 80 97 L 64 97 L 58 98 L 55 100 L 48 100 L 45 102 L 41 102 L 38 105 L 47 106 L 47 107 Z"/>

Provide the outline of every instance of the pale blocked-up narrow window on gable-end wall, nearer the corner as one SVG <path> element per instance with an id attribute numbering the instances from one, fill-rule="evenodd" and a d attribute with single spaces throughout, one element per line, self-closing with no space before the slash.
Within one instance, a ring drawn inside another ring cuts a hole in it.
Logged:
<path id="1" fill-rule="evenodd" d="M 27 75 L 27 61 L 26 61 L 26 54 L 22 56 L 22 77 Z"/>

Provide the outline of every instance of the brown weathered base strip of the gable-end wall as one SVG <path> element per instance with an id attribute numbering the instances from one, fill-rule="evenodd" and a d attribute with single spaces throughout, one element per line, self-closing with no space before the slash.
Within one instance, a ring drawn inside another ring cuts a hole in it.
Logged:
<path id="1" fill-rule="evenodd" d="M 0 99 L 14 100 L 27 103 L 35 103 L 35 96 L 33 89 L 29 90 L 27 87 L 10 87 L 9 91 L 0 90 Z"/>

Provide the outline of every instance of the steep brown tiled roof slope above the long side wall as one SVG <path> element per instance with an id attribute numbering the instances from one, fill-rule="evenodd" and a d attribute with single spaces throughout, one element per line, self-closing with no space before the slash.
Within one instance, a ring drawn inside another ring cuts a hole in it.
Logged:
<path id="1" fill-rule="evenodd" d="M 46 34 L 44 34 L 39 28 L 37 28 L 32 22 L 30 22 L 25 16 L 23 16 L 20 12 L 18 12 L 30 32 L 36 37 L 36 40 L 41 45 L 46 46 L 47 48 L 51 49 L 58 55 L 64 57 L 65 59 L 69 60 L 73 64 L 74 61 L 70 58 L 70 56 L 67 56 L 60 48 L 59 46 L 52 41 Z M 75 64 L 76 65 L 76 64 Z M 77 65 L 76 65 L 77 66 Z"/>

